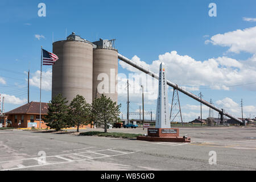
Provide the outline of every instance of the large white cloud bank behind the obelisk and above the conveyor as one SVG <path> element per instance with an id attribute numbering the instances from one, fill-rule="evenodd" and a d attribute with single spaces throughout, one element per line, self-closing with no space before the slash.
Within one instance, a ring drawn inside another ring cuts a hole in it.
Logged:
<path id="1" fill-rule="evenodd" d="M 256 59 L 253 58 L 247 61 L 238 61 L 223 56 L 202 62 L 187 55 L 178 55 L 176 51 L 172 51 L 159 55 L 159 60 L 146 64 L 138 56 L 133 57 L 135 63 L 142 64 L 143 67 L 155 73 L 158 73 L 160 60 L 166 64 L 168 80 L 192 91 L 199 90 L 200 86 L 229 90 L 228 86 L 255 82 L 256 80 Z M 139 73 L 138 69 L 122 61 L 119 63 L 122 68 Z M 249 88 L 249 86 L 245 86 L 245 88 Z M 256 90 L 256 84 L 250 85 L 250 90 Z"/>

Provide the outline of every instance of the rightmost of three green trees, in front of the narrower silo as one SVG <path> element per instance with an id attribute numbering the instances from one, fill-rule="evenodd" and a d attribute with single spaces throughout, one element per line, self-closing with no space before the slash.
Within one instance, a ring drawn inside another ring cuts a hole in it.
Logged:
<path id="1" fill-rule="evenodd" d="M 106 98 L 104 94 L 100 98 L 96 98 L 92 103 L 92 113 L 94 121 L 104 125 L 104 131 L 107 133 L 108 125 L 119 121 L 120 105 L 113 102 L 110 98 Z"/>

